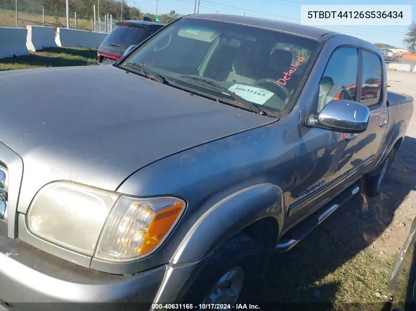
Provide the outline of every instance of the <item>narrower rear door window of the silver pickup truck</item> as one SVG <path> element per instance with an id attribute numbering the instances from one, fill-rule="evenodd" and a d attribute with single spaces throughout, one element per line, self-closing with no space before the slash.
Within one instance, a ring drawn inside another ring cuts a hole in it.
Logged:
<path id="1" fill-rule="evenodd" d="M 380 100 L 382 89 L 382 63 L 374 53 L 362 51 L 361 103 L 370 106 Z"/>

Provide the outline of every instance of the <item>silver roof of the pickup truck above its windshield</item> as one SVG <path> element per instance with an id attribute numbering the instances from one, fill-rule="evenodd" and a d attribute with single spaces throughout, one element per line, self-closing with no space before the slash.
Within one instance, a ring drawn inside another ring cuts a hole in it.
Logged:
<path id="1" fill-rule="evenodd" d="M 226 14 L 192 14 L 187 15 L 185 18 L 197 18 L 205 20 L 213 20 L 219 22 L 228 22 L 235 24 L 242 24 L 247 26 L 254 26 L 260 28 L 268 28 L 278 31 L 284 31 L 309 37 L 313 39 L 319 39 L 326 33 L 334 33 L 334 31 L 322 28 L 316 28 L 312 26 L 305 26 L 296 23 L 282 22 L 276 20 L 269 20 L 264 18 L 241 16 L 241 15 L 226 15 Z"/>

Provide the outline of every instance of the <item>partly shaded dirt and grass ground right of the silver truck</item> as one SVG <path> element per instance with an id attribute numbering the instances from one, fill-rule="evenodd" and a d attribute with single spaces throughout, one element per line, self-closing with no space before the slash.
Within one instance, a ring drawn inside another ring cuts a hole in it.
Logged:
<path id="1" fill-rule="evenodd" d="M 416 99 L 416 73 L 388 71 L 388 89 Z M 416 216 L 416 112 L 376 198 L 356 195 L 272 258 L 261 310 L 390 310 L 387 281 Z"/>

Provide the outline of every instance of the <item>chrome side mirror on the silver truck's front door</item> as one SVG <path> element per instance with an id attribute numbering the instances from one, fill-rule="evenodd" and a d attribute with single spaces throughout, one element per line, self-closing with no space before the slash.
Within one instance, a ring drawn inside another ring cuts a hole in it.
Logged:
<path id="1" fill-rule="evenodd" d="M 310 115 L 309 127 L 339 133 L 361 133 L 367 129 L 370 110 L 367 106 L 351 100 L 333 100 L 318 115 Z"/>

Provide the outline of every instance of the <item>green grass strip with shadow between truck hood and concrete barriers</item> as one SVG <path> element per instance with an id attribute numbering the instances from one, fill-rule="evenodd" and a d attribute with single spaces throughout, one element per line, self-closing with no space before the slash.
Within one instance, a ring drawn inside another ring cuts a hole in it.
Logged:
<path id="1" fill-rule="evenodd" d="M 0 71 L 41 67 L 96 65 L 96 50 L 86 48 L 48 48 L 28 56 L 0 59 Z"/>

